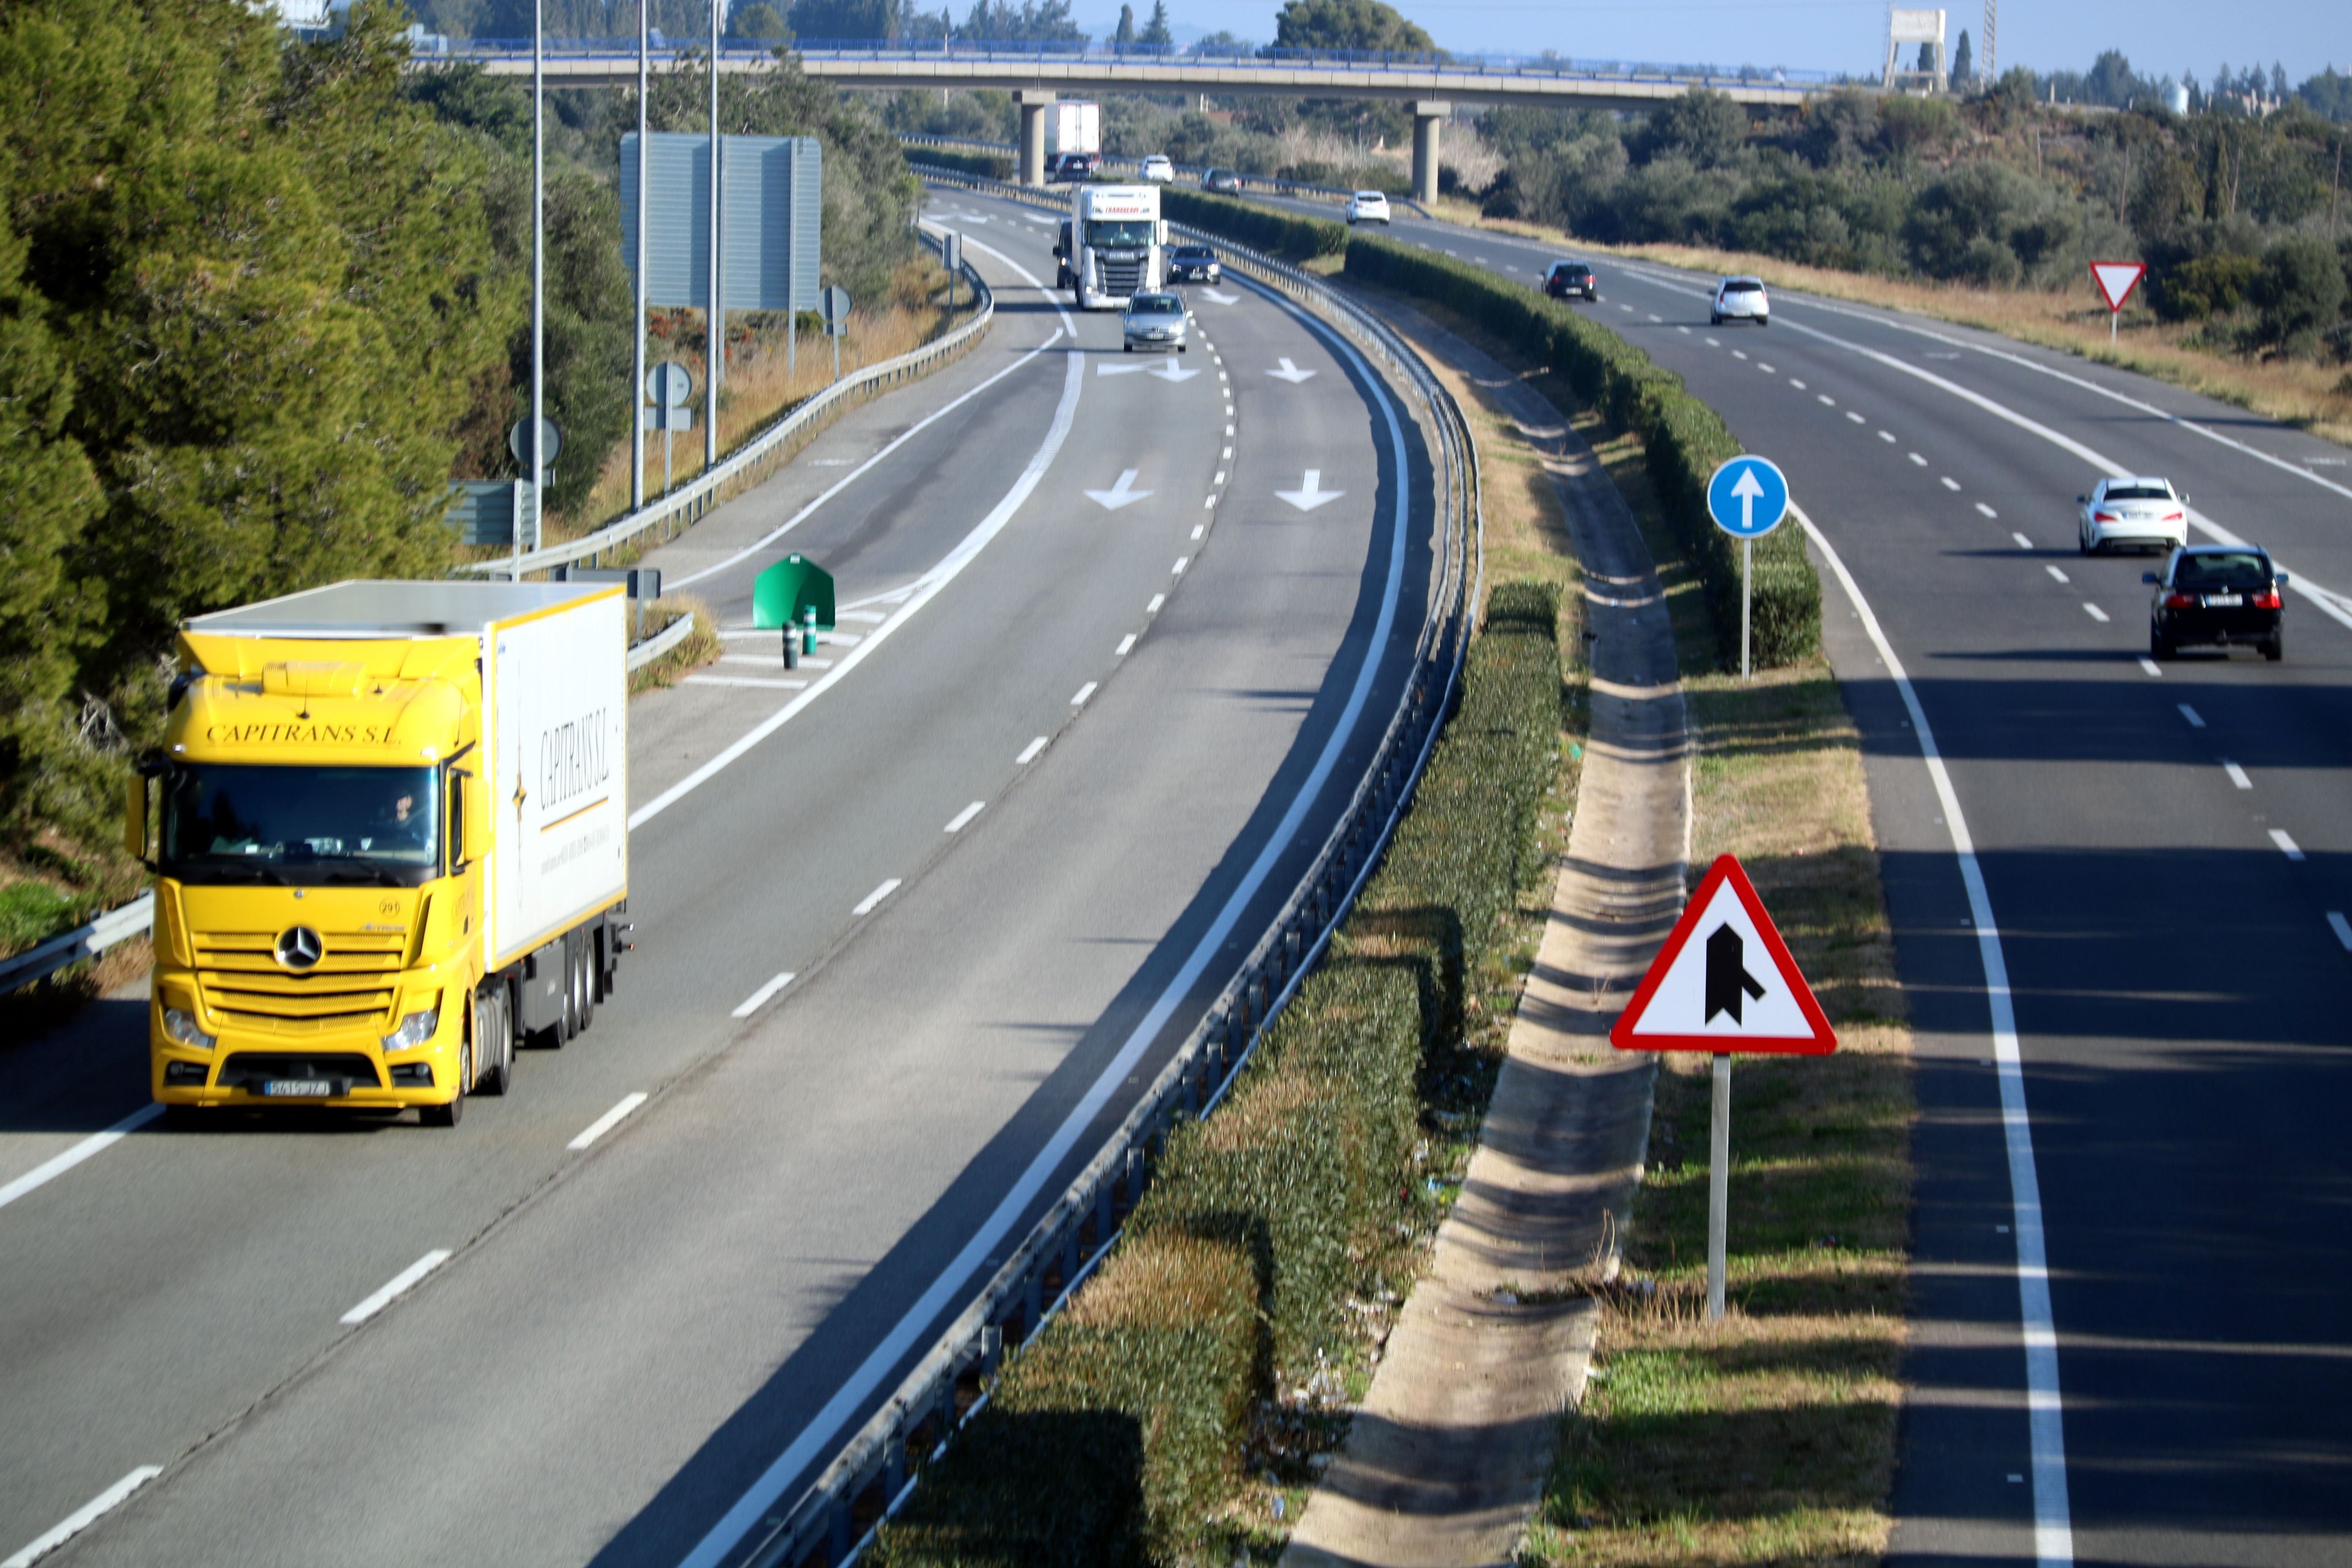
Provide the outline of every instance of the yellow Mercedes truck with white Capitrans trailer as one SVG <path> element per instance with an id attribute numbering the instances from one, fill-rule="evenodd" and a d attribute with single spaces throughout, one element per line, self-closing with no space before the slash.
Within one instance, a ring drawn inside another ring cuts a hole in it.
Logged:
<path id="1" fill-rule="evenodd" d="M 628 926 L 619 583 L 334 583 L 198 616 L 127 842 L 155 867 L 151 1086 L 454 1126 L 612 994 Z M 153 827 L 153 832 L 151 832 Z"/>

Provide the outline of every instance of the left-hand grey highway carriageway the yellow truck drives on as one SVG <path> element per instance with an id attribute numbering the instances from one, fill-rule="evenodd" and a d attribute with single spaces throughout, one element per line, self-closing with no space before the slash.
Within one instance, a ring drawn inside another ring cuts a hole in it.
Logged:
<path id="1" fill-rule="evenodd" d="M 654 562 L 746 628 L 800 550 L 844 616 L 633 705 L 595 1027 L 454 1133 L 148 1124 L 0 1206 L 0 1552 L 113 1502 L 45 1561 L 727 1561 L 1279 905 L 1402 686 L 1418 437 L 1247 287 L 1122 355 L 1047 226 L 934 207 L 983 348 Z M 0 1185 L 141 1095 L 134 1004 L 7 1053 Z"/>

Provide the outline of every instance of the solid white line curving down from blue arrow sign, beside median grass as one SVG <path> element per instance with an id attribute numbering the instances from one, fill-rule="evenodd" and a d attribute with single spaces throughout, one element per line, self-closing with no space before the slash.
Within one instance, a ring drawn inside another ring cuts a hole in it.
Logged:
<path id="1" fill-rule="evenodd" d="M 1804 529 L 1813 548 L 1837 574 L 1839 588 L 1853 604 L 1870 644 L 1886 663 L 1886 675 L 1903 696 L 1910 712 L 1912 733 L 1919 738 L 1919 759 L 1926 762 L 1929 780 L 1936 785 L 1936 802 L 1943 806 L 1945 832 L 1952 837 L 1952 858 L 1959 863 L 1962 886 L 1969 891 L 1969 917 L 1976 922 L 1976 954 L 1985 966 L 1985 1004 L 1992 1013 L 1992 1058 L 2002 1084 L 2002 1138 L 2009 1152 L 2009 1208 L 2018 1241 L 2018 1321 L 2025 1338 L 2025 1420 L 2032 1439 L 2034 1476 L 2034 1556 L 2044 1568 L 2063 1568 L 2074 1561 L 2074 1523 L 2067 1505 L 2065 1476 L 2065 1410 L 2058 1396 L 2058 1324 L 2051 1314 L 2049 1248 L 2042 1234 L 2042 1178 L 2034 1166 L 2034 1133 L 2025 1110 L 2025 1067 L 2018 1053 L 2018 1016 L 2009 992 L 2009 959 L 2002 954 L 2002 931 L 1992 919 L 1992 893 L 1985 889 L 1985 872 L 1976 860 L 1976 839 L 1969 835 L 1969 818 L 1959 809 L 1959 792 L 1943 766 L 1936 733 L 1929 729 L 1926 708 L 1912 689 L 1903 661 L 1896 656 L 1886 632 L 1879 628 L 1870 599 L 1860 583 L 1846 571 L 1844 557 L 1797 503 L 1790 515 Z"/>

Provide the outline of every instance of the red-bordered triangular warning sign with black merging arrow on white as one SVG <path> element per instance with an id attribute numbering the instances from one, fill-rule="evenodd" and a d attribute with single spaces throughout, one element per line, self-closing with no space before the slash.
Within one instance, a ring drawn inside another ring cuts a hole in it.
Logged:
<path id="1" fill-rule="evenodd" d="M 1837 1032 L 1797 973 L 1748 872 L 1722 856 L 1609 1030 L 1618 1051 L 1828 1056 Z"/>

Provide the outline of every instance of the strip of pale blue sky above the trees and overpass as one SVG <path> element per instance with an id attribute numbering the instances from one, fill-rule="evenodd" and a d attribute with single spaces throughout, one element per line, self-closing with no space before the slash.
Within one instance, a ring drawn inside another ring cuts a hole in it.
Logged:
<path id="1" fill-rule="evenodd" d="M 1169 19 L 1188 31 L 1230 28 L 1256 40 L 1275 35 L 1277 9 L 1277 0 L 1169 0 Z M 1397 9 L 1461 52 L 1851 73 L 1877 73 L 1886 59 L 1884 0 L 1402 0 Z M 1073 12 L 1108 38 L 1120 7 L 1077 0 Z M 1138 0 L 1138 24 L 1148 14 L 1150 2 Z M 2352 71 L 2345 0 L 2009 0 L 1999 21 L 2002 68 L 2089 71 L 2100 49 L 2122 49 L 2140 75 L 2194 71 L 2199 82 L 2223 61 L 2265 71 L 2279 61 L 2293 82 L 2331 63 Z M 1983 24 L 1983 0 L 1947 7 L 1952 42 L 1966 28 L 1978 54 Z"/>

